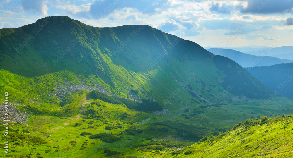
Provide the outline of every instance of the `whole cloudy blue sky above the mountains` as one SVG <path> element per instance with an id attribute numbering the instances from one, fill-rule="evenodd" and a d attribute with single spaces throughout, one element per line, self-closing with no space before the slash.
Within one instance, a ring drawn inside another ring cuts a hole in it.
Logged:
<path id="1" fill-rule="evenodd" d="M 0 0 L 0 15 L 0 28 L 69 16 L 95 27 L 149 25 L 202 47 L 293 45 L 293 0 Z"/>

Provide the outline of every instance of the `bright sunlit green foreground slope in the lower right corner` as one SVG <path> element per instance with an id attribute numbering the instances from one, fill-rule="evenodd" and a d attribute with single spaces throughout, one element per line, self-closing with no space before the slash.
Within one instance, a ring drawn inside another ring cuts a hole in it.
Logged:
<path id="1" fill-rule="evenodd" d="M 292 115 L 247 119 L 233 130 L 206 137 L 164 157 L 292 157 L 292 121 Z"/>

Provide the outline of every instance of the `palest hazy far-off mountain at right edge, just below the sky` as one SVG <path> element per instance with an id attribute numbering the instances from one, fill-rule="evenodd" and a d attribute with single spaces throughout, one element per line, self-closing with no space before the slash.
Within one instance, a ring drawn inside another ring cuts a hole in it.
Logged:
<path id="1" fill-rule="evenodd" d="M 258 55 L 258 56 L 275 56 L 279 57 L 278 55 L 280 54 L 289 54 L 292 53 L 293 46 L 283 46 L 283 47 L 266 47 L 263 50 L 258 50 L 258 51 L 251 51 L 251 52 L 244 52 L 246 54 L 251 54 L 251 55 Z M 288 58 L 289 57 L 289 58 Z M 287 58 L 282 58 L 282 59 L 290 59 L 292 58 L 288 56 Z"/>

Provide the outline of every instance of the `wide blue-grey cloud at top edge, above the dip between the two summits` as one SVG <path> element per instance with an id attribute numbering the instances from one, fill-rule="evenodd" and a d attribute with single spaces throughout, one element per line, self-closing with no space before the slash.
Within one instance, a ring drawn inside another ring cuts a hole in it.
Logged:
<path id="1" fill-rule="evenodd" d="M 165 0 L 100 0 L 91 5 L 90 13 L 93 18 L 100 19 L 122 8 L 134 8 L 143 14 L 152 15 L 160 13 L 157 8 L 162 8 L 163 4 L 166 5 L 164 1 Z"/>

